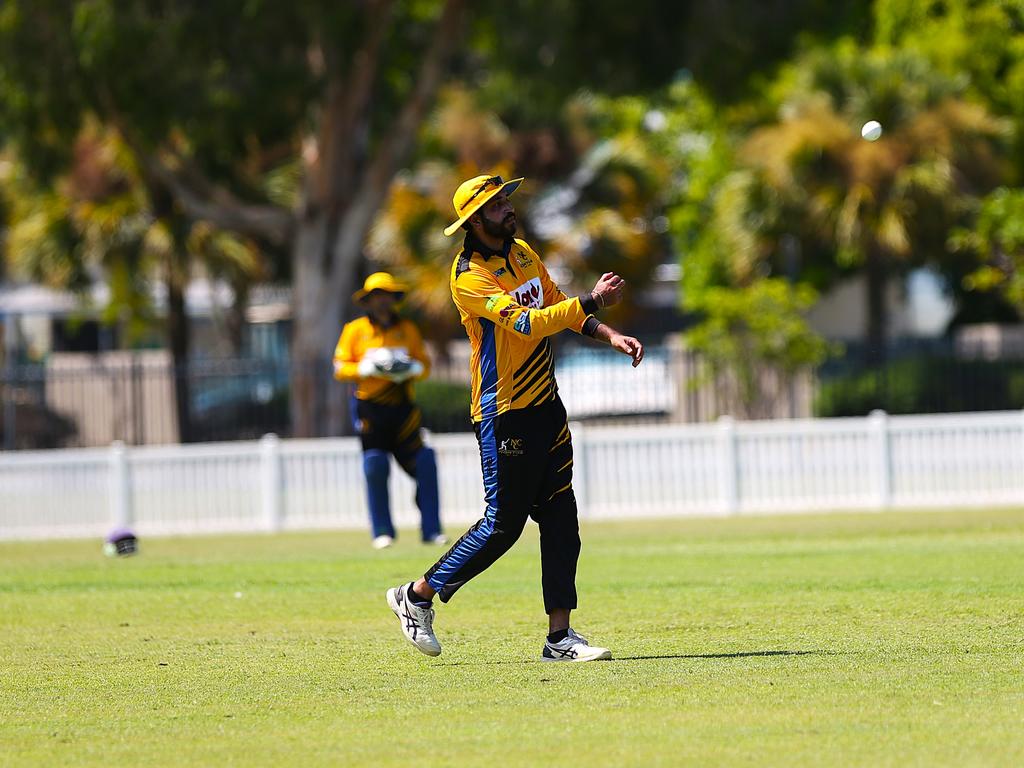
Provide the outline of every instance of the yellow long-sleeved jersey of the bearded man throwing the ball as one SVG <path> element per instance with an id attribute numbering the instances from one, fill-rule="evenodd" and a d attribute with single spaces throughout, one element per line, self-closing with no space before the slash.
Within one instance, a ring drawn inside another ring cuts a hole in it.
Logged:
<path id="1" fill-rule="evenodd" d="M 470 342 L 473 421 L 554 398 L 549 336 L 597 326 L 593 299 L 567 298 L 521 240 L 490 251 L 472 233 L 452 265 L 452 298 Z M 585 309 L 586 304 L 586 309 Z"/>

